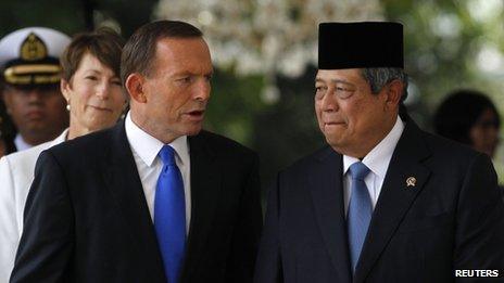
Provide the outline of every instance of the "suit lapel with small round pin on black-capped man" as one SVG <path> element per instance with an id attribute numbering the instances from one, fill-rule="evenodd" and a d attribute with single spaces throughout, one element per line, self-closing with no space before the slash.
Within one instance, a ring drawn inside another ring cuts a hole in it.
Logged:
<path id="1" fill-rule="evenodd" d="M 407 120 L 383 180 L 355 270 L 354 282 L 365 280 L 421 191 L 430 171 L 420 162 L 429 155 L 429 150 L 423 143 L 420 130 L 413 120 Z"/>

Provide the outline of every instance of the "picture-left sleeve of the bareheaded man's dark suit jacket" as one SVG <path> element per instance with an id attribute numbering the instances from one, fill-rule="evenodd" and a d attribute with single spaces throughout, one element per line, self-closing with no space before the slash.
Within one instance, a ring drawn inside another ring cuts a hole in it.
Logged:
<path id="1" fill-rule="evenodd" d="M 63 282 L 73 252 L 74 216 L 61 166 L 42 152 L 24 213 L 12 283 Z"/>

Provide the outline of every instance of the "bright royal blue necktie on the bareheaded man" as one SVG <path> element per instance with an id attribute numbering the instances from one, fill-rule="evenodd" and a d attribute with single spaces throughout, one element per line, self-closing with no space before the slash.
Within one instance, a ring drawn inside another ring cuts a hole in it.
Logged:
<path id="1" fill-rule="evenodd" d="M 159 155 L 163 169 L 155 186 L 154 228 L 166 278 L 169 283 L 177 283 L 186 252 L 184 182 L 174 149 L 164 145 Z"/>

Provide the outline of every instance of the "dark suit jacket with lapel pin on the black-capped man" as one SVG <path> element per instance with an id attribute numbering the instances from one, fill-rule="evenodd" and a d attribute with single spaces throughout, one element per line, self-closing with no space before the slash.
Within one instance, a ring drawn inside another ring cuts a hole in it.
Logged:
<path id="1" fill-rule="evenodd" d="M 342 155 L 325 147 L 278 175 L 269 192 L 256 283 L 445 283 L 455 280 L 455 269 L 504 275 L 504 205 L 488 156 L 407 120 L 355 272 L 342 165 Z M 410 177 L 415 185 L 407 185 Z"/>

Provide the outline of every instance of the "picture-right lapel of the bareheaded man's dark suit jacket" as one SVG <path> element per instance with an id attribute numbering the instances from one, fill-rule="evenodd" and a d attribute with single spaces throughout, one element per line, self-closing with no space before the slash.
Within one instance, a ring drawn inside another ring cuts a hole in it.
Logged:
<path id="1" fill-rule="evenodd" d="M 212 228 L 223 177 L 215 152 L 204 139 L 204 132 L 189 137 L 188 140 L 191 159 L 191 220 L 185 274 L 190 273 L 198 262 L 198 255 L 203 254 L 201 250 L 205 247 Z"/>

